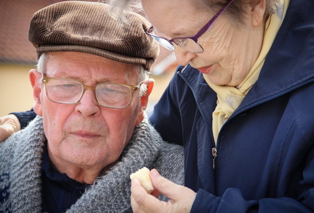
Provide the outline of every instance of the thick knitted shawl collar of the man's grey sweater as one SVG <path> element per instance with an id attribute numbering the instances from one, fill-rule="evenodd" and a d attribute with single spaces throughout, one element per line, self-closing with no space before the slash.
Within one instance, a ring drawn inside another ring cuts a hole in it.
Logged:
<path id="1" fill-rule="evenodd" d="M 13 212 L 41 211 L 41 162 L 46 138 L 42 118 L 37 116 L 18 133 L 10 176 Z M 153 166 L 159 155 L 161 137 L 147 119 L 134 129 L 120 160 L 101 174 L 67 212 L 131 212 L 129 175 Z"/>

